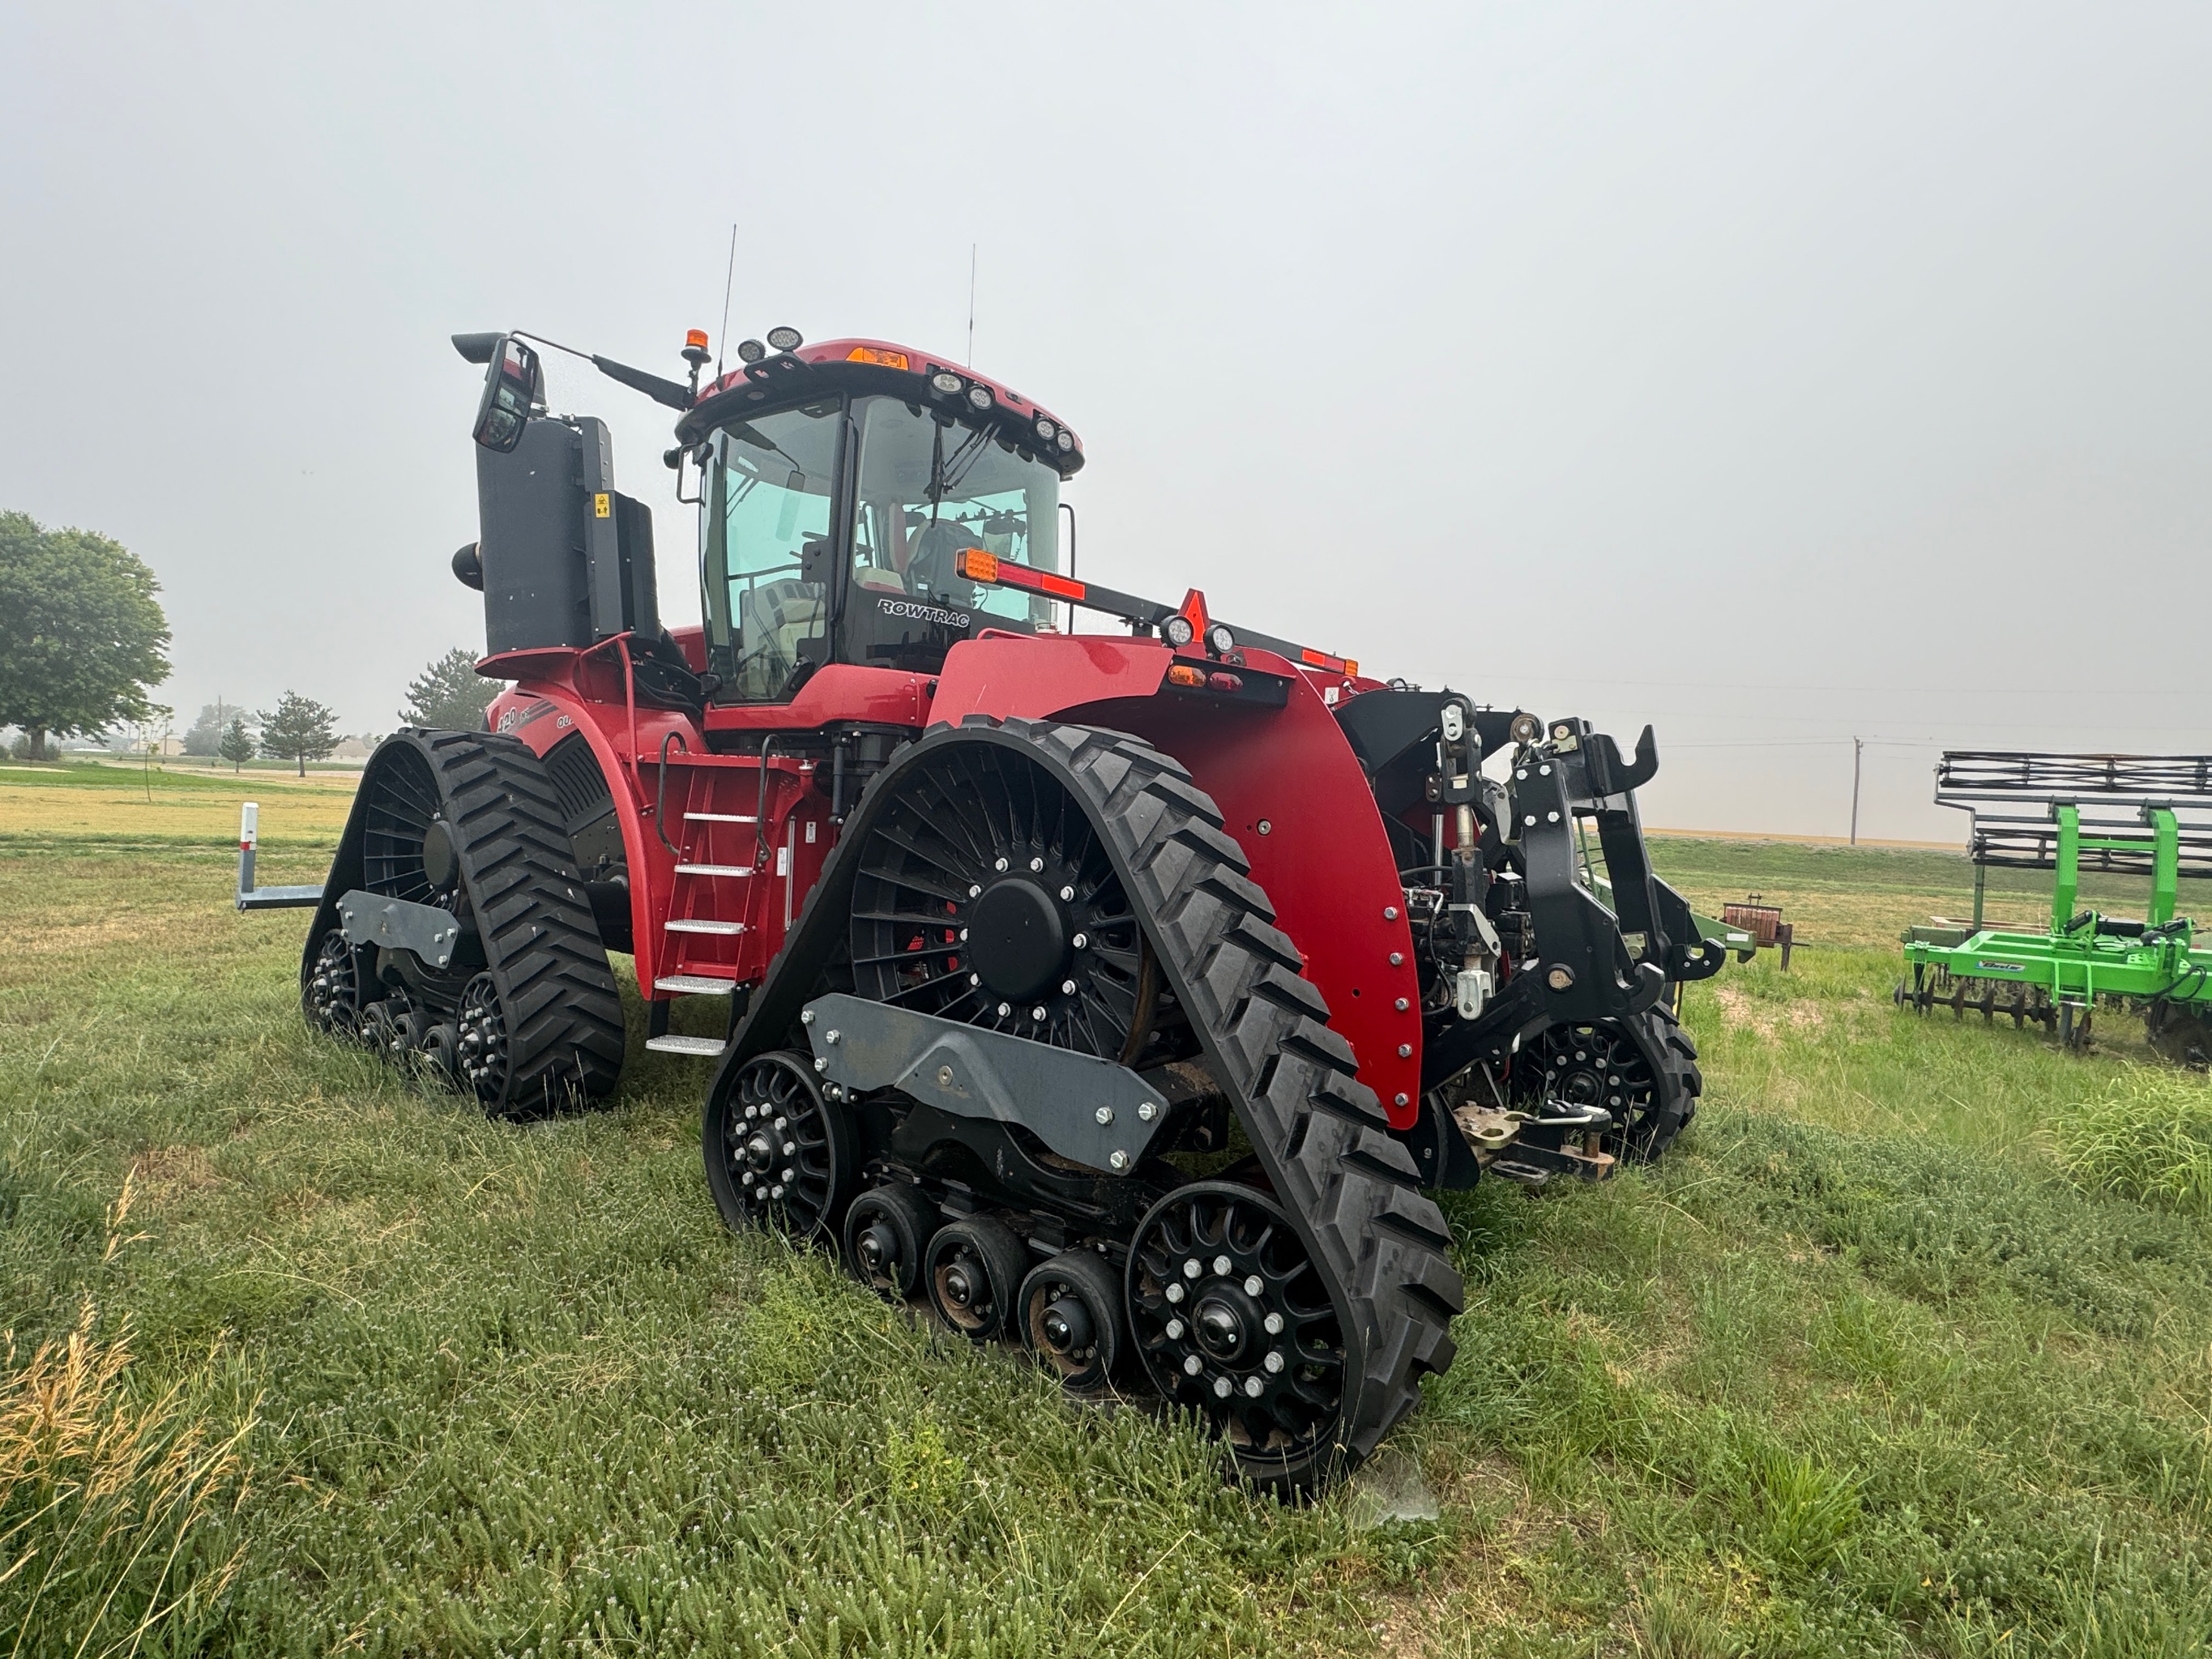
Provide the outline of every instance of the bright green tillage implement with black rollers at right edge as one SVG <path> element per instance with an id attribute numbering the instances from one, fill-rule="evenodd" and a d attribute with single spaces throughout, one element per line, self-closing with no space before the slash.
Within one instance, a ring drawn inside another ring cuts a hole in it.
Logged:
<path id="1" fill-rule="evenodd" d="M 2208 794 L 2208 772 L 2205 757 L 1944 754 L 1936 801 L 1975 814 L 1975 898 L 1991 865 L 2053 869 L 2051 931 L 1909 929 L 1911 978 L 1898 1002 L 1922 1013 L 1942 1004 L 1960 1018 L 1973 1009 L 1984 1020 L 2035 1020 L 2068 1046 L 2088 1040 L 2099 1002 L 2141 1009 L 2152 1048 L 2203 1066 L 2212 1057 L 2212 951 L 2192 949 L 2194 927 L 2174 907 L 2181 874 L 2203 874 L 2199 865 L 2212 858 L 2212 834 L 2181 818 L 2194 805 L 2188 796 Z M 2051 799 L 2059 790 L 2077 799 Z M 2150 794 L 2166 799 L 2143 799 Z M 2022 814 L 2031 803 L 2042 807 L 2035 818 Z M 2101 814 L 2088 832 L 2084 803 Z M 2141 827 L 2115 823 L 2115 807 L 2135 807 Z M 2106 872 L 2148 872 L 2148 916 L 2077 911 L 2084 856 Z"/>

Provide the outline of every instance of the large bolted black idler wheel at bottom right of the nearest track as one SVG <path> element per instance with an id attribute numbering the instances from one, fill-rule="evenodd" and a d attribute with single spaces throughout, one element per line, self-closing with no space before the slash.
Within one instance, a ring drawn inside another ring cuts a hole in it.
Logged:
<path id="1" fill-rule="evenodd" d="M 1203 1416 L 1250 1480 L 1314 1484 L 1336 1455 L 1345 1336 L 1274 1199 L 1192 1181 L 1155 1203 L 1130 1245 L 1128 1312 L 1152 1385 Z"/>

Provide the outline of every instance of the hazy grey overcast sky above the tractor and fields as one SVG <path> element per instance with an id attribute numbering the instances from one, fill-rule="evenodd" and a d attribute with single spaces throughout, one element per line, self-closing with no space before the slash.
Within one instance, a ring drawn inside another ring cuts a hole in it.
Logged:
<path id="1" fill-rule="evenodd" d="M 1944 745 L 2212 750 L 2203 4 L 0 4 L 0 507 L 217 695 L 482 648 L 529 327 L 967 352 L 1086 575 L 1659 728 L 1659 825 L 1958 836 Z M 553 361 L 697 617 L 666 411 Z M 1093 624 L 1097 626 L 1097 624 Z"/>

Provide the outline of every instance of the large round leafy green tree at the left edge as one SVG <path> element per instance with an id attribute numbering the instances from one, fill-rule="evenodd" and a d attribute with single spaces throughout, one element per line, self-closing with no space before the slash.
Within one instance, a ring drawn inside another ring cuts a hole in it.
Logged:
<path id="1" fill-rule="evenodd" d="M 0 726 L 24 730 L 29 759 L 150 714 L 146 690 L 168 679 L 159 591 L 122 542 L 0 513 Z"/>

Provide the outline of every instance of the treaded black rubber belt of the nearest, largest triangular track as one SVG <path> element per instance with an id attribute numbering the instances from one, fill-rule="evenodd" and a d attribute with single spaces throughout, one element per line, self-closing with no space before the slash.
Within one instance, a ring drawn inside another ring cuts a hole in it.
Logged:
<path id="1" fill-rule="evenodd" d="M 1451 1234 L 1374 1091 L 1358 1082 L 1352 1044 L 1329 1031 L 1327 1002 L 1298 975 L 1298 951 L 1274 927 L 1274 905 L 1221 810 L 1172 757 L 1124 732 L 982 714 L 933 728 L 896 754 L 869 781 L 770 964 L 717 1088 L 750 1053 L 796 1031 L 843 938 L 856 863 L 845 854 L 863 845 L 869 807 L 889 799 L 905 765 L 951 743 L 1011 748 L 1042 763 L 1104 834 L 1217 1082 L 1327 1279 L 1349 1347 L 1336 1462 L 1358 1462 L 1420 1400 L 1420 1378 L 1451 1365 L 1451 1318 L 1462 1307 L 1460 1274 L 1444 1254 Z M 1267 1475 L 1259 1462 L 1248 1473 Z"/>

